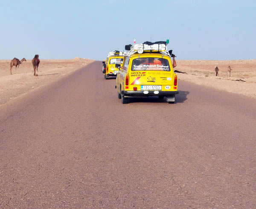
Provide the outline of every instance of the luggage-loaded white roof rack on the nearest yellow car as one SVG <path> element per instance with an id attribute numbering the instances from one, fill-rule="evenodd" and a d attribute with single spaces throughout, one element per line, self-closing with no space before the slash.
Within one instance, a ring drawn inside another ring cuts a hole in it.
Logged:
<path id="1" fill-rule="evenodd" d="M 142 54 L 143 52 L 161 52 L 162 54 L 171 56 L 167 51 L 167 44 L 165 41 L 157 41 L 154 43 L 146 41 L 140 44 L 134 44 L 134 45 L 130 44 L 130 45 L 126 45 L 125 49 L 129 50 L 126 53 L 128 56 L 136 52 L 139 54 Z"/>

